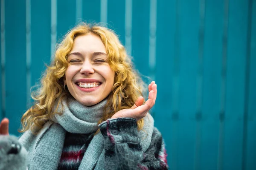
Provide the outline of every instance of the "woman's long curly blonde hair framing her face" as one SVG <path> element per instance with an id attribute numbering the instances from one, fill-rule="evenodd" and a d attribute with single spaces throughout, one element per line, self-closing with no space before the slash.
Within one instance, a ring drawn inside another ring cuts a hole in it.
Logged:
<path id="1" fill-rule="evenodd" d="M 45 122 L 58 114 L 57 110 L 61 101 L 71 96 L 63 86 L 65 71 L 68 67 L 67 56 L 73 48 L 75 38 L 89 33 L 96 34 L 101 38 L 107 51 L 108 63 L 115 71 L 112 92 L 108 95 L 102 119 L 98 123 L 111 118 L 117 111 L 131 108 L 137 98 L 143 96 L 146 86 L 137 71 L 134 70 L 131 58 L 127 55 L 116 34 L 103 26 L 80 23 L 71 29 L 58 45 L 54 60 L 50 66 L 47 66 L 41 78 L 40 87 L 32 92 L 35 104 L 23 114 L 22 129 L 19 132 L 30 129 L 36 133 L 44 126 Z M 56 103 L 57 107 L 54 109 Z M 138 120 L 137 125 L 138 129 L 142 129 L 143 119 Z"/>

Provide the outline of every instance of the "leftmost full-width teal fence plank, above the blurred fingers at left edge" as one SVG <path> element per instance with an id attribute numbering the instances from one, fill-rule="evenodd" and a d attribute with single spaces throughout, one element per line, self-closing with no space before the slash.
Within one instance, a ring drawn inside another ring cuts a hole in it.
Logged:
<path id="1" fill-rule="evenodd" d="M 5 2 L 6 116 L 10 120 L 10 133 L 16 135 L 20 126 L 21 115 L 26 110 L 25 2 L 25 0 L 7 0 Z"/>

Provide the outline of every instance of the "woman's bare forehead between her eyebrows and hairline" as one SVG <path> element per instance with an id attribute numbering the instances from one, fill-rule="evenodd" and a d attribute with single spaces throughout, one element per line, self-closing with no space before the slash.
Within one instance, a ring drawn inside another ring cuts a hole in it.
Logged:
<path id="1" fill-rule="evenodd" d="M 96 34 L 79 35 L 74 40 L 73 51 L 84 52 L 106 52 L 105 45 L 101 38 Z"/>

